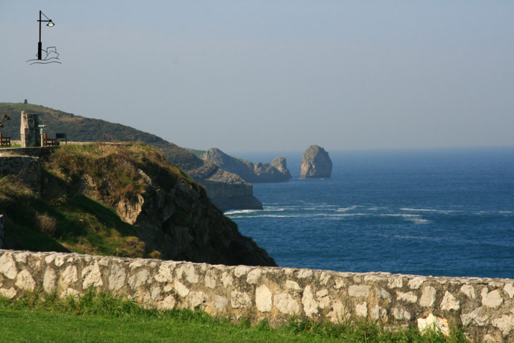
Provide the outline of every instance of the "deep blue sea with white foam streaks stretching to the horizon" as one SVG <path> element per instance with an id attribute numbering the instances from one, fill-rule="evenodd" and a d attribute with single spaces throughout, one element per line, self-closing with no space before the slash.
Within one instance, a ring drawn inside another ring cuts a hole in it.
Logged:
<path id="1" fill-rule="evenodd" d="M 514 148 L 329 152 L 331 178 L 254 184 L 226 213 L 283 267 L 514 278 Z"/>

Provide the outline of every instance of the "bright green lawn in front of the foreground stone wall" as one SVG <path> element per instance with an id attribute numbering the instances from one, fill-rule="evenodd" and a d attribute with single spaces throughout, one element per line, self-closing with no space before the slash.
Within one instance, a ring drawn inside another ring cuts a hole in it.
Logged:
<path id="1" fill-rule="evenodd" d="M 89 290 L 78 298 L 28 293 L 0 298 L 0 341 L 248 341 L 248 342 L 464 342 L 417 329 L 389 330 L 370 321 L 344 324 L 291 319 L 273 329 L 263 320 L 216 319 L 201 311 L 143 308 L 122 296 Z"/>

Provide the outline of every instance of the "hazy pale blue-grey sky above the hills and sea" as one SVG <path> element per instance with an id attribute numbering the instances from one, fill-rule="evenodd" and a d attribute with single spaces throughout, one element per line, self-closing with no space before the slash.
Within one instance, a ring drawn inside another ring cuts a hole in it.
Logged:
<path id="1" fill-rule="evenodd" d="M 183 147 L 514 146 L 511 0 L 0 0 L 0 42 L 0 102 Z"/>

